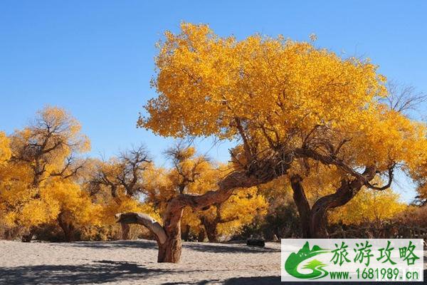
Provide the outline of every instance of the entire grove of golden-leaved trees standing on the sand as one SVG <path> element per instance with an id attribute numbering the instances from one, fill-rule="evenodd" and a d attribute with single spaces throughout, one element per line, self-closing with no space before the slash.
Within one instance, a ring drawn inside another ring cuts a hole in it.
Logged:
<path id="1" fill-rule="evenodd" d="M 170 167 L 143 146 L 84 157 L 78 121 L 48 106 L 26 128 L 0 132 L 4 238 L 60 229 L 66 241 L 130 239 L 129 224 L 142 224 L 137 237 L 157 241 L 158 261 L 178 262 L 181 239 L 324 238 L 330 224 L 381 224 L 408 211 L 390 188 L 397 171 L 427 199 L 426 124 L 369 60 L 184 23 L 165 33 L 155 63 L 157 97 L 138 126 L 181 139 L 164 152 Z M 230 161 L 184 143 L 197 137 L 236 142 Z"/>

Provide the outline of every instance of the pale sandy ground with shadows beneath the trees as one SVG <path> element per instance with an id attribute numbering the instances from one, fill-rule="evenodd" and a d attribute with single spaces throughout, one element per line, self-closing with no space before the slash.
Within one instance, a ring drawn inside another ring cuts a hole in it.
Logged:
<path id="1" fill-rule="evenodd" d="M 280 284 L 279 243 L 255 248 L 185 242 L 181 263 L 156 259 L 156 244 L 144 240 L 0 241 L 0 284 Z"/>

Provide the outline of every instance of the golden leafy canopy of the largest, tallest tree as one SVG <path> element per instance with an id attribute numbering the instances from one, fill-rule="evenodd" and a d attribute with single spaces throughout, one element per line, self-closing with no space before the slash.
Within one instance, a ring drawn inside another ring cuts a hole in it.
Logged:
<path id="1" fill-rule="evenodd" d="M 156 65 L 159 96 L 139 125 L 160 135 L 238 138 L 248 157 L 285 148 L 379 171 L 410 164 L 426 150 L 414 149 L 426 126 L 380 102 L 386 78 L 369 60 L 283 36 L 222 38 L 206 25 L 184 23 L 181 33 L 165 33 Z"/>

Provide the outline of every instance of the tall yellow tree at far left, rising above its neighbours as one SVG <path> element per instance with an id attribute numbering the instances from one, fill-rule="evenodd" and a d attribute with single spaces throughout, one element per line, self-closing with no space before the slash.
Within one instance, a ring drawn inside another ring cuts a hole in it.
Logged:
<path id="1" fill-rule="evenodd" d="M 90 147 L 80 128 L 65 110 L 46 107 L 10 135 L 11 158 L 0 170 L 0 210 L 10 227 L 28 230 L 23 241 L 45 223 L 58 224 L 72 239 L 77 224 L 88 222 L 84 217 L 95 219 L 91 207 L 83 210 L 90 200 L 74 181 L 83 168 L 77 155 Z"/>

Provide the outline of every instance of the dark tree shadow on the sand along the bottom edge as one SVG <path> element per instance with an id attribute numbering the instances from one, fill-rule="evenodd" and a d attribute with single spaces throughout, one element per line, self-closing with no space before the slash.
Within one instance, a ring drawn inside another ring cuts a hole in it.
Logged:
<path id="1" fill-rule="evenodd" d="M 203 270 L 206 271 L 206 270 Z M 212 270 L 215 271 L 215 270 Z M 199 271 L 188 271 L 188 274 Z M 94 264 L 83 265 L 37 265 L 18 266 L 0 268 L 0 284 L 8 285 L 58 285 L 58 284 L 103 284 L 107 282 L 120 283 L 120 281 L 138 281 L 139 284 L 148 284 L 146 279 L 160 274 L 179 274 L 179 271 L 164 269 L 147 269 L 132 262 L 101 260 Z M 424 270 L 424 280 L 427 280 L 427 270 Z M 221 274 L 218 279 L 199 280 L 194 282 L 174 282 L 173 275 L 171 281 L 164 285 L 263 285 L 263 284 L 283 284 L 280 276 L 258 276 L 258 277 L 236 277 L 221 281 Z M 290 285 L 300 285 L 301 282 L 287 282 Z M 328 284 L 327 282 L 310 282 L 310 284 Z M 334 282 L 334 284 L 353 285 L 358 282 Z M 377 282 L 376 284 L 387 284 L 390 282 Z M 394 282 L 393 284 L 420 284 L 419 282 Z"/>

